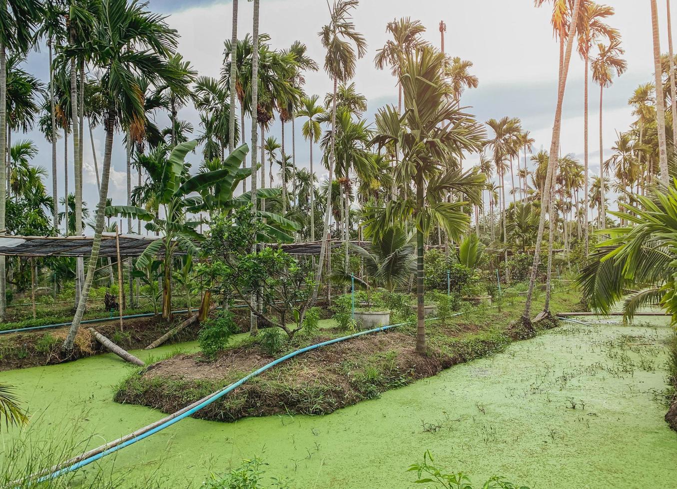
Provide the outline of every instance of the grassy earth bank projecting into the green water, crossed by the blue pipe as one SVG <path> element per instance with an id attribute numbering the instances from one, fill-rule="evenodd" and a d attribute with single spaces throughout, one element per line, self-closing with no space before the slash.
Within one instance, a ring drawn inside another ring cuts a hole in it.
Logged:
<path id="1" fill-rule="evenodd" d="M 500 308 L 466 304 L 463 315 L 429 323 L 426 356 L 414 349 L 414 325 L 312 350 L 269 369 L 195 416 L 235 421 L 279 414 L 320 415 L 376 398 L 452 365 L 502 352 L 523 339 L 525 333 L 511 327 L 521 315 L 523 301 L 513 298 Z M 554 294 L 552 310 L 575 308 L 575 292 Z M 548 324 L 539 326 L 543 329 Z M 115 400 L 173 413 L 274 358 L 345 334 L 333 327 L 315 335 L 298 335 L 275 354 L 253 338 L 226 348 L 214 360 L 199 353 L 179 354 L 131 373 L 118 387 Z"/>

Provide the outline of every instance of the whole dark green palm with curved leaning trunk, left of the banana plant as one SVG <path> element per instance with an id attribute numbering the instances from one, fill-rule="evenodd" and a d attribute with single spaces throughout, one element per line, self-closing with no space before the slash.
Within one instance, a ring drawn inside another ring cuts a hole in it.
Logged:
<path id="1" fill-rule="evenodd" d="M 101 191 L 87 277 L 72 325 L 64 340 L 65 350 L 73 348 L 99 256 L 108 197 L 113 136 L 118 116 L 123 127 L 129 126 L 133 121 L 144 120 L 144 107 L 138 97 L 140 90 L 138 76 L 148 78 L 156 86 L 172 87 L 185 83 L 187 75 L 177 72 L 175 66 L 168 63 L 169 56 L 177 46 L 177 32 L 169 28 L 165 18 L 147 11 L 144 4 L 127 3 L 126 0 L 103 0 L 101 11 L 92 39 L 89 41 L 91 62 L 100 70 L 102 87 L 104 93 L 108 95 Z"/>

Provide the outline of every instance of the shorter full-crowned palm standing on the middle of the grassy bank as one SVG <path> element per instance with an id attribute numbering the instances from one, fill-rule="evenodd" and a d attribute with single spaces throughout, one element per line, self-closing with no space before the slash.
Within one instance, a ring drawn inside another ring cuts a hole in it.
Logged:
<path id="1" fill-rule="evenodd" d="M 416 49 L 403 56 L 400 83 L 404 94 L 404 114 L 397 146 L 402 160 L 395 168 L 399 186 L 413 185 L 414 198 L 391 200 L 386 206 L 368 210 L 370 232 L 377 234 L 389 225 L 413 219 L 416 226 L 416 295 L 418 324 L 416 351 L 427 351 L 424 305 L 424 237 L 437 225 L 453 238 L 467 229 L 470 218 L 460 209 L 466 202 L 446 202 L 447 195 L 464 195 L 470 204 L 480 204 L 485 178 L 477 169 L 463 172 L 460 156 L 464 151 L 479 152 L 485 133 L 469 114 L 454 101 L 447 101 L 449 85 L 442 76 L 444 55 L 431 47 Z M 393 110 L 386 107 L 385 110 Z M 393 142 L 391 133 L 377 135 L 378 147 Z"/>

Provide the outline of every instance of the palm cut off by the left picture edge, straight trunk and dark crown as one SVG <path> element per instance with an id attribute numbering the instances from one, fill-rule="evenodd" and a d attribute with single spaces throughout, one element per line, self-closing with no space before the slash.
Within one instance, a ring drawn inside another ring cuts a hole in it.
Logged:
<path id="1" fill-rule="evenodd" d="M 33 43 L 41 15 L 39 0 L 7 0 L 0 5 L 0 184 L 7 179 L 7 50 L 22 53 Z M 0 232 L 5 231 L 6 194 L 0 191 Z M 0 321 L 5 320 L 5 257 L 0 256 Z"/>

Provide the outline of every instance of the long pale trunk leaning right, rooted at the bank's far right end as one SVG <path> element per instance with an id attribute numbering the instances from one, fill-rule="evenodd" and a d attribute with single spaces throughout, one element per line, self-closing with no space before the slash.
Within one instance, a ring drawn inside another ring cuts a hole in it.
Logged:
<path id="1" fill-rule="evenodd" d="M 573 15 L 571 16 L 571 25 L 575 25 L 578 19 L 578 11 L 581 0 L 575 0 L 573 4 Z M 562 122 L 562 103 L 564 100 L 564 91 L 567 85 L 567 72 L 569 71 L 569 61 L 571 60 L 571 48 L 573 47 L 573 39 L 575 37 L 575 29 L 569 29 L 569 39 L 567 41 L 567 50 L 561 67 L 561 76 L 557 87 L 557 106 L 554 114 L 554 123 L 552 124 L 552 139 L 550 140 L 550 154 L 548 155 L 548 171 L 546 172 L 546 182 L 544 185 L 544 195 L 542 202 L 550 201 L 550 185 L 554 176 L 554 165 L 557 160 L 557 148 L 559 147 L 559 135 L 561 132 Z M 536 235 L 536 247 L 533 250 L 533 265 L 531 266 L 531 276 L 529 277 L 529 289 L 527 291 L 527 300 L 525 303 L 524 312 L 521 321 L 523 325 L 531 326 L 531 301 L 533 299 L 533 286 L 536 284 L 536 275 L 538 273 L 538 264 L 540 262 L 541 243 L 543 241 L 543 231 L 546 220 L 546 210 L 548 206 L 541 206 L 541 214 L 538 220 L 538 234 Z"/>

